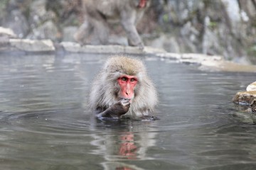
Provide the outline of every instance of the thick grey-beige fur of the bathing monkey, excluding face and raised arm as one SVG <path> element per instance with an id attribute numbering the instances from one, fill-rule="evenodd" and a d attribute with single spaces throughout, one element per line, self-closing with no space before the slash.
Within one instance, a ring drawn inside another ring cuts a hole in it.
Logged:
<path id="1" fill-rule="evenodd" d="M 123 56 L 107 60 L 100 73 L 95 77 L 90 91 L 92 111 L 102 113 L 119 102 L 117 79 L 127 73 L 137 76 L 138 82 L 134 88 L 134 98 L 129 111 L 122 117 L 140 118 L 154 112 L 158 102 L 157 93 L 154 84 L 146 74 L 144 64 L 140 60 Z"/>

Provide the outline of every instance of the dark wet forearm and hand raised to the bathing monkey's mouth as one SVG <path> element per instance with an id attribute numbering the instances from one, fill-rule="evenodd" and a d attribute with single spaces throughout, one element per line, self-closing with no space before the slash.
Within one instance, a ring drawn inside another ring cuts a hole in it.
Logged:
<path id="1" fill-rule="evenodd" d="M 124 115 L 129 111 L 131 103 L 129 102 L 129 99 L 123 98 L 117 103 L 114 103 L 110 108 L 107 108 L 106 111 L 99 113 L 97 117 L 103 117 L 103 118 L 120 118 L 121 115 Z"/>

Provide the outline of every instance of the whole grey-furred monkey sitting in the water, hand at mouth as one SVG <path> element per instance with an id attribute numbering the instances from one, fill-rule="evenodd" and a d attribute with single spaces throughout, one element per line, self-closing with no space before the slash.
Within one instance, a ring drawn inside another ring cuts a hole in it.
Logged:
<path id="1" fill-rule="evenodd" d="M 104 64 L 90 92 L 90 107 L 98 118 L 155 120 L 154 84 L 142 61 L 116 56 Z"/>

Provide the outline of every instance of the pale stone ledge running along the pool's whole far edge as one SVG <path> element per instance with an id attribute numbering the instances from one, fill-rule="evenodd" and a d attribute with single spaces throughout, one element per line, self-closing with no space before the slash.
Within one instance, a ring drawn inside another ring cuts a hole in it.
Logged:
<path id="1" fill-rule="evenodd" d="M 19 53 L 23 55 L 43 55 L 46 53 L 97 53 L 97 54 L 130 54 L 149 55 L 163 59 L 175 60 L 185 64 L 196 64 L 199 69 L 223 72 L 256 72 L 256 65 L 239 64 L 226 61 L 222 56 L 195 53 L 171 53 L 154 47 L 123 45 L 80 45 L 76 42 L 54 43 L 52 40 L 29 40 L 17 38 L 1 38 L 0 54 Z"/>

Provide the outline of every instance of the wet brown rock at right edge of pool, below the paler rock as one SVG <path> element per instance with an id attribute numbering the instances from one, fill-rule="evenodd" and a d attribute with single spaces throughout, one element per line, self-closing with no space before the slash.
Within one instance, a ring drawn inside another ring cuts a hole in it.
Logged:
<path id="1" fill-rule="evenodd" d="M 240 91 L 233 97 L 233 102 L 244 106 L 242 110 L 256 112 L 256 91 Z"/>

